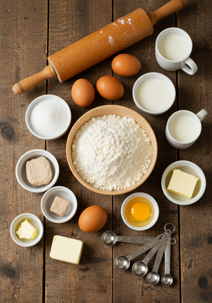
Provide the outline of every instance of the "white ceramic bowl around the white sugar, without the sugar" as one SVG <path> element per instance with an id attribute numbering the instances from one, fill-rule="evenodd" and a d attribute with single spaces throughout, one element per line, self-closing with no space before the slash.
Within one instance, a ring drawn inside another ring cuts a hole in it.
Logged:
<path id="1" fill-rule="evenodd" d="M 67 122 L 67 125 L 65 127 L 65 129 L 63 130 L 63 132 L 61 132 L 60 134 L 58 134 L 56 137 L 42 137 L 40 135 L 38 135 L 36 132 L 34 132 L 34 130 L 31 128 L 31 125 L 30 125 L 30 122 L 29 122 L 29 117 L 30 117 L 30 113 L 31 113 L 31 110 L 32 108 L 39 102 L 43 101 L 43 100 L 47 100 L 47 99 L 53 99 L 53 100 L 56 100 L 58 102 L 60 102 L 64 107 L 65 109 L 67 110 L 67 113 L 68 113 L 68 122 Z M 71 110 L 68 106 L 68 104 L 60 97 L 58 96 L 55 96 L 55 95 L 42 95 L 38 98 L 36 98 L 35 100 L 33 100 L 30 105 L 28 106 L 27 110 L 26 110 L 26 115 L 25 115 L 25 121 L 26 121 L 26 125 L 29 129 L 29 131 L 32 133 L 32 135 L 34 135 L 35 137 L 39 138 L 39 139 L 42 139 L 42 140 L 55 140 L 55 139 L 58 139 L 60 137 L 62 137 L 68 130 L 70 124 L 71 124 Z"/>

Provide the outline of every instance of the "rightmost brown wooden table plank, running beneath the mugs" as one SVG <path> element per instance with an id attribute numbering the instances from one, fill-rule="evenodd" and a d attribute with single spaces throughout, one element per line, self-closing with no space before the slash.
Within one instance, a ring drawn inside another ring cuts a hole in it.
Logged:
<path id="1" fill-rule="evenodd" d="M 212 38 L 211 2 L 189 2 L 178 12 L 177 25 L 193 42 L 191 58 L 196 62 L 195 75 L 178 72 L 179 110 L 197 113 L 205 108 L 208 116 L 202 121 L 202 132 L 190 148 L 180 150 L 180 160 L 197 164 L 206 177 L 206 191 L 192 205 L 180 208 L 182 302 L 212 301 L 211 291 L 211 94 Z"/>

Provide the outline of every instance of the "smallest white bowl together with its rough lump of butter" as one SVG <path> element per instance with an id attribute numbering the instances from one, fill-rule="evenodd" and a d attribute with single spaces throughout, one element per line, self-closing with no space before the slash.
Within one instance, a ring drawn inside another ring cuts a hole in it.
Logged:
<path id="1" fill-rule="evenodd" d="M 10 226 L 13 241 L 24 247 L 36 245 L 43 237 L 44 229 L 41 220 L 33 214 L 18 215 Z"/>

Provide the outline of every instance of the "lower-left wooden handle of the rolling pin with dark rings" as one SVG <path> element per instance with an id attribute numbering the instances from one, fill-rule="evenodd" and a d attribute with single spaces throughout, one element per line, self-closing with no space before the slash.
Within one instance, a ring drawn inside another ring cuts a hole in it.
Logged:
<path id="1" fill-rule="evenodd" d="M 48 65 L 44 68 L 42 72 L 39 72 L 38 74 L 32 75 L 26 79 L 15 83 L 12 87 L 12 90 L 16 95 L 20 95 L 24 92 L 27 92 L 36 85 L 40 84 L 41 82 L 55 77 L 56 74 L 54 69 L 51 65 Z"/>

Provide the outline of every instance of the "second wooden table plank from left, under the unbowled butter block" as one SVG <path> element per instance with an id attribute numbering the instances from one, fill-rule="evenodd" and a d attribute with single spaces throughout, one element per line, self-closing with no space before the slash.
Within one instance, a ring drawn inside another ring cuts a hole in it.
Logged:
<path id="1" fill-rule="evenodd" d="M 50 1 L 49 13 L 49 55 L 94 32 L 112 20 L 111 0 L 87 2 Z M 101 98 L 97 91 L 91 106 L 81 108 L 71 98 L 71 87 L 79 78 L 90 81 L 94 87 L 103 75 L 112 75 L 111 58 L 87 71 L 60 83 L 56 79 L 48 81 L 48 93 L 65 99 L 71 108 L 71 127 L 77 119 L 91 108 L 111 104 Z M 70 127 L 70 129 L 71 129 Z M 46 302 L 112 302 L 112 248 L 101 242 L 103 231 L 86 234 L 78 226 L 81 212 L 90 205 L 101 205 L 108 213 L 104 231 L 112 228 L 112 197 L 98 195 L 84 188 L 72 175 L 68 167 L 65 147 L 68 132 L 55 141 L 47 142 L 47 150 L 57 158 L 60 176 L 56 185 L 70 188 L 76 195 L 78 209 L 71 221 L 55 224 L 46 219 Z M 102 229 L 103 230 L 103 229 Z M 84 241 L 81 261 L 73 265 L 53 260 L 49 257 L 54 235 L 63 235 Z"/>

